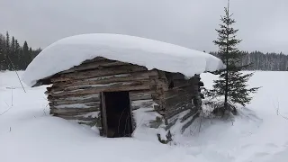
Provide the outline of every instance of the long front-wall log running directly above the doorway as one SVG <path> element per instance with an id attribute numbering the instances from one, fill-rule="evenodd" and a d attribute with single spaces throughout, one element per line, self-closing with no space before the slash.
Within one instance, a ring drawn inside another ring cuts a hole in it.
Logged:
<path id="1" fill-rule="evenodd" d="M 50 94 L 53 97 L 56 96 L 67 96 L 67 95 L 73 95 L 73 96 L 79 96 L 83 94 L 99 94 L 101 92 L 117 92 L 117 91 L 133 91 L 133 90 L 148 90 L 149 85 L 114 85 L 114 86 L 108 86 L 108 87 L 92 87 L 89 89 L 84 90 L 77 90 L 77 91 L 63 91 L 58 92 L 57 94 Z"/>

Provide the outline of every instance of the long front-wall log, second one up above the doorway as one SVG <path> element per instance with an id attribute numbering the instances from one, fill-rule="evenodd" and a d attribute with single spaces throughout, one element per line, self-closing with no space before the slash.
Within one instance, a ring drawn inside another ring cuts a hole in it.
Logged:
<path id="1" fill-rule="evenodd" d="M 130 74 L 121 74 L 113 76 L 100 76 L 90 79 L 80 79 L 71 82 L 57 82 L 53 84 L 54 87 L 69 87 L 77 85 L 97 85 L 97 84 L 110 84 L 115 82 L 128 82 L 128 81 L 140 81 L 148 80 L 149 76 L 157 76 L 157 71 L 140 71 Z M 48 90 L 50 90 L 49 88 Z"/>

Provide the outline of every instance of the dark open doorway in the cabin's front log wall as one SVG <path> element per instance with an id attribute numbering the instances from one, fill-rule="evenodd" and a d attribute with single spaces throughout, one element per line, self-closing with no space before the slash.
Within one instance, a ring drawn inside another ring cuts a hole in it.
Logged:
<path id="1" fill-rule="evenodd" d="M 132 133 L 129 92 L 104 92 L 103 124 L 109 138 L 130 137 Z"/>

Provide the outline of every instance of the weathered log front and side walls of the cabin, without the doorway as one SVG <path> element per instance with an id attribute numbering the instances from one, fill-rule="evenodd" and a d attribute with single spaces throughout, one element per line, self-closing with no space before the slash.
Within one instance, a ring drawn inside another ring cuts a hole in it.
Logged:
<path id="1" fill-rule="evenodd" d="M 129 92 L 133 130 L 140 124 L 134 118 L 138 109 L 157 112 L 162 118 L 151 121 L 150 127 L 157 128 L 160 124 L 152 123 L 163 121 L 166 130 L 177 120 L 184 122 L 184 130 L 201 109 L 199 76 L 187 80 L 180 73 L 148 70 L 106 58 L 86 60 L 42 82 L 52 84 L 46 92 L 52 115 L 95 125 L 101 133 L 102 92 Z M 177 114 L 184 111 L 187 113 L 178 119 Z"/>

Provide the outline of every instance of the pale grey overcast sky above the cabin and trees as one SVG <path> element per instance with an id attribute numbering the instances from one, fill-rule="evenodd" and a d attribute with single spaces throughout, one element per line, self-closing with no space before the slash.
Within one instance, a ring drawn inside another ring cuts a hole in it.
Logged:
<path id="1" fill-rule="evenodd" d="M 0 32 L 33 48 L 61 38 L 112 32 L 216 50 L 227 0 L 0 0 Z M 288 54 L 287 0 L 231 0 L 242 50 Z"/>

